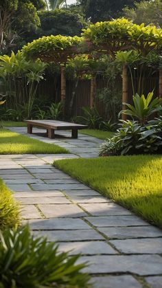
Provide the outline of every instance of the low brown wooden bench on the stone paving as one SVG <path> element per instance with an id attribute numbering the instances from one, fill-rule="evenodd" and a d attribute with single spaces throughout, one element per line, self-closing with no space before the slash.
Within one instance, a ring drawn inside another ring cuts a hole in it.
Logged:
<path id="1" fill-rule="evenodd" d="M 32 134 L 33 127 L 41 127 L 47 129 L 47 137 L 54 138 L 55 130 L 71 130 L 71 137 L 78 138 L 78 129 L 87 128 L 86 125 L 56 121 L 56 120 L 24 120 L 27 122 L 27 133 Z"/>

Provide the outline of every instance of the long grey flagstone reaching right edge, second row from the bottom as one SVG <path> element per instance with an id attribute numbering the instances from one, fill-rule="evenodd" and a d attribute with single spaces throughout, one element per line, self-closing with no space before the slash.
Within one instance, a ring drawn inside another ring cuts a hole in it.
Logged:
<path id="1" fill-rule="evenodd" d="M 88 261 L 83 271 L 91 274 L 134 273 L 140 276 L 161 274 L 162 257 L 159 255 L 82 256 L 77 263 Z"/>

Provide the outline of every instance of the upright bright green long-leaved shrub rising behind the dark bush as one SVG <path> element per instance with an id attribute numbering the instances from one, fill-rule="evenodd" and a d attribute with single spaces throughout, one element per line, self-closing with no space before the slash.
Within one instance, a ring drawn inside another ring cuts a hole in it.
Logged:
<path id="1" fill-rule="evenodd" d="M 152 97 L 153 91 L 148 93 L 147 97 L 144 95 L 139 96 L 139 94 L 136 93 L 135 96 L 132 96 L 134 106 L 128 103 L 124 103 L 128 109 L 122 110 L 119 115 L 121 113 L 130 115 L 132 118 L 136 118 L 141 123 L 141 125 L 145 124 L 150 115 L 162 110 L 162 106 L 160 105 L 162 99 L 155 98 L 152 100 Z"/>

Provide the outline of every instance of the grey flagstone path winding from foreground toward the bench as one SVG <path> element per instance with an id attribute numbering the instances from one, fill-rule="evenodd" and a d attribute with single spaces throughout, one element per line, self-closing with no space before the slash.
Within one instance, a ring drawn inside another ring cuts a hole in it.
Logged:
<path id="1" fill-rule="evenodd" d="M 76 142 L 88 142 L 82 137 Z M 21 201 L 23 222 L 34 235 L 58 241 L 60 251 L 81 253 L 95 288 L 161 288 L 162 231 L 51 166 L 76 154 L 0 155 L 0 177 Z"/>

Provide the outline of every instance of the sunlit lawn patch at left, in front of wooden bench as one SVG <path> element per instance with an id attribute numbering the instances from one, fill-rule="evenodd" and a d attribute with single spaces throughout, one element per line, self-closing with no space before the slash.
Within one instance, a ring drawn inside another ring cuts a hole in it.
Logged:
<path id="1" fill-rule="evenodd" d="M 65 148 L 48 144 L 5 129 L 0 130 L 0 154 L 59 154 L 69 153 Z"/>

